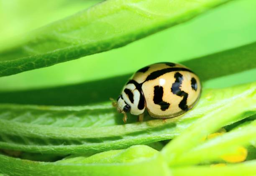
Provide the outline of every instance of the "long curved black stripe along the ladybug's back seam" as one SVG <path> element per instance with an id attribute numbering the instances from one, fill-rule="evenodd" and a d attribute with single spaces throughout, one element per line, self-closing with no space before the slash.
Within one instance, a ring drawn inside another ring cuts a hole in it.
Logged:
<path id="1" fill-rule="evenodd" d="M 159 76 L 164 75 L 165 73 L 169 73 L 169 72 L 173 72 L 173 71 L 188 71 L 188 72 L 193 73 L 191 70 L 189 70 L 187 68 L 179 68 L 179 67 L 164 68 L 162 70 L 157 70 L 157 71 L 150 73 L 143 83 L 145 83 L 148 80 L 154 80 L 154 79 L 158 78 Z M 143 84 L 143 83 L 141 83 L 141 84 Z"/>

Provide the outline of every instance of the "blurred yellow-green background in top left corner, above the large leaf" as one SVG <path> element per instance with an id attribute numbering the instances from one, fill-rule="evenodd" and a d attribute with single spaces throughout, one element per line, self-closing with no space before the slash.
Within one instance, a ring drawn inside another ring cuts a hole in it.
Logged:
<path id="1" fill-rule="evenodd" d="M 28 31 L 52 23 L 61 18 L 88 8 L 100 0 L 13 0 L 11 3 L 1 1 L 0 4 L 0 50 L 22 45 L 24 38 L 18 37 Z M 45 13 L 47 12 L 47 13 Z"/>

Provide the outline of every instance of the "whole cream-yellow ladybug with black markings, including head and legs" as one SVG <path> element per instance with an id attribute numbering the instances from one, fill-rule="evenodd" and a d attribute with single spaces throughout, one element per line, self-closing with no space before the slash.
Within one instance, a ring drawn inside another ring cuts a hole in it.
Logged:
<path id="1" fill-rule="evenodd" d="M 125 84 L 116 106 L 119 113 L 172 118 L 191 109 L 200 97 L 201 83 L 189 68 L 175 63 L 155 63 L 138 70 Z"/>

